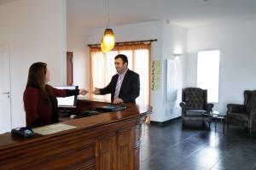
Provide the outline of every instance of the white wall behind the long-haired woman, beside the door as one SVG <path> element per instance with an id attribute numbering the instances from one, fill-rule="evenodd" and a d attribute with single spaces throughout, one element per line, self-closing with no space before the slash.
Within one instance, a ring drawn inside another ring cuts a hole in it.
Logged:
<path id="1" fill-rule="evenodd" d="M 18 0 L 0 6 L 0 43 L 10 47 L 12 127 L 26 124 L 22 95 L 28 68 L 48 63 L 50 84 L 66 82 L 66 1 Z"/>

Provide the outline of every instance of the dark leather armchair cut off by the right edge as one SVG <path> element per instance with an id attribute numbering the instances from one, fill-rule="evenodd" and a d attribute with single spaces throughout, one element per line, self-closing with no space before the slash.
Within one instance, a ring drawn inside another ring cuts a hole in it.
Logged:
<path id="1" fill-rule="evenodd" d="M 228 104 L 227 122 L 236 125 L 242 125 L 249 130 L 251 134 L 253 128 L 256 128 L 256 90 L 244 91 L 244 104 Z"/>

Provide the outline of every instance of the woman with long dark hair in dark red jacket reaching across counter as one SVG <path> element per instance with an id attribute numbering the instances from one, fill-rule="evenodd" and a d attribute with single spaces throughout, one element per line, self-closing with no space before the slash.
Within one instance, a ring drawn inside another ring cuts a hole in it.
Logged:
<path id="1" fill-rule="evenodd" d="M 59 122 L 56 97 L 88 93 L 84 88 L 77 90 L 53 88 L 47 84 L 48 82 L 47 64 L 43 62 L 32 64 L 28 71 L 26 89 L 23 94 L 27 127 L 40 127 Z"/>

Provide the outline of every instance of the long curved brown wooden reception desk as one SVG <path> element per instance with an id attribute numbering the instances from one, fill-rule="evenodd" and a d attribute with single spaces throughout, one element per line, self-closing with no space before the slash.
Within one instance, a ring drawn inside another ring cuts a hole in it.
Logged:
<path id="1" fill-rule="evenodd" d="M 73 113 L 106 105 L 79 100 Z M 140 169 L 142 123 L 148 105 L 126 103 L 127 109 L 61 122 L 75 128 L 24 139 L 0 135 L 0 169 Z"/>

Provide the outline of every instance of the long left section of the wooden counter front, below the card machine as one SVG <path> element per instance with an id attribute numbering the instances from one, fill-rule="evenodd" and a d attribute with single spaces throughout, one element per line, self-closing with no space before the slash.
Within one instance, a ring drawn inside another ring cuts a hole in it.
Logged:
<path id="1" fill-rule="evenodd" d="M 66 134 L 0 152 L 0 169 L 95 169 L 95 140 Z"/>

